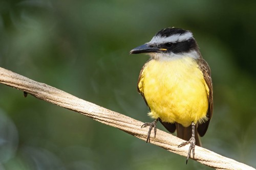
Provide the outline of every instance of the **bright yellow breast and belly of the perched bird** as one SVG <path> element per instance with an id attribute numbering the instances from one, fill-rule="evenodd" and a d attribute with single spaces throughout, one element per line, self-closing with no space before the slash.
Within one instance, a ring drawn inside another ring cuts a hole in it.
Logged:
<path id="1" fill-rule="evenodd" d="M 209 88 L 194 59 L 146 63 L 138 84 L 153 118 L 184 127 L 206 119 Z"/>

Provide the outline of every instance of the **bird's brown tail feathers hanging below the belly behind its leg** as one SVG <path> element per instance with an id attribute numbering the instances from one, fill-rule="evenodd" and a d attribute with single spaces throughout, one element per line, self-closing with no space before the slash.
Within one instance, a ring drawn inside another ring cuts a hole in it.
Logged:
<path id="1" fill-rule="evenodd" d="M 176 129 L 177 129 L 177 137 L 183 139 L 183 140 L 189 140 L 192 135 L 192 128 L 191 125 L 189 127 L 183 127 L 181 124 L 175 123 Z M 195 139 L 196 139 L 196 145 L 199 147 L 202 147 L 202 143 L 199 137 L 199 134 L 197 132 L 197 125 L 195 129 Z"/>

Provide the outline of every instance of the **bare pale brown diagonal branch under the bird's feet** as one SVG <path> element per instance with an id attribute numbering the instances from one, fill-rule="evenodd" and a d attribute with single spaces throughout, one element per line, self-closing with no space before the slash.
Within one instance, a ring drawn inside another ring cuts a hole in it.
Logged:
<path id="1" fill-rule="evenodd" d="M 39 83 L 18 75 L 10 70 L 0 67 L 0 83 L 30 93 L 37 99 L 41 99 L 63 108 L 73 110 L 88 117 L 91 117 L 98 122 L 118 128 L 126 133 L 129 133 L 137 138 L 146 140 L 147 128 L 140 128 L 143 124 L 138 120 L 123 114 L 108 110 L 93 103 L 77 98 L 65 91 L 51 87 L 44 83 Z M 157 136 L 151 137 L 151 143 L 158 145 L 170 152 L 187 156 L 188 145 L 182 148 L 177 146 L 184 140 L 173 136 L 164 131 L 158 130 Z M 223 157 L 219 154 L 196 146 L 194 160 L 216 169 L 254 169 L 251 166 L 237 162 L 235 160 Z"/>

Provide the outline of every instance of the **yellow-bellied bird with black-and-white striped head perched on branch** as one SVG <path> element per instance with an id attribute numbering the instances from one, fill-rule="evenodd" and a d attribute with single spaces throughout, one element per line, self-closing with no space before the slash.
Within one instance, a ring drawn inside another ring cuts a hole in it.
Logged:
<path id="1" fill-rule="evenodd" d="M 195 145 L 201 146 L 213 110 L 211 71 L 203 59 L 193 33 L 169 27 L 158 31 L 150 42 L 134 48 L 130 54 L 146 54 L 150 59 L 142 67 L 137 90 L 154 118 L 149 126 L 146 142 L 150 142 L 157 122 L 177 137 L 186 140 L 178 148 L 190 144 L 186 163 Z"/>

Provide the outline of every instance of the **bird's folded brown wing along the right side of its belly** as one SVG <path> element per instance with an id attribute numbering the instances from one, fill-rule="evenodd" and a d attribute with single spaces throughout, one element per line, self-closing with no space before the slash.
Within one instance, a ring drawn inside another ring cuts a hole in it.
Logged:
<path id="1" fill-rule="evenodd" d="M 212 109 L 214 106 L 214 100 L 212 96 L 212 81 L 210 77 L 210 67 L 207 64 L 207 62 L 204 59 L 199 59 L 198 61 L 199 68 L 203 72 L 204 80 L 209 88 L 209 96 L 208 96 L 208 110 L 207 110 L 207 118 L 208 120 L 202 124 L 198 125 L 197 131 L 200 136 L 204 136 L 205 132 L 208 129 L 209 123 L 210 123 L 210 118 L 212 116 Z"/>

